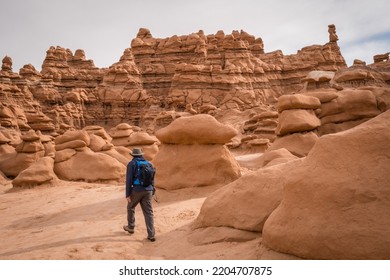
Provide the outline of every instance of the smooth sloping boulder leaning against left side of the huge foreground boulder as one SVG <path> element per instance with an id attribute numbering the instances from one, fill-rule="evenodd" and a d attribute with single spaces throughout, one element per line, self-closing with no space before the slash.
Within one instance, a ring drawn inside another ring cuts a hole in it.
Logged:
<path id="1" fill-rule="evenodd" d="M 193 226 L 258 231 L 283 197 L 285 178 L 299 166 L 294 160 L 248 173 L 207 197 Z"/>

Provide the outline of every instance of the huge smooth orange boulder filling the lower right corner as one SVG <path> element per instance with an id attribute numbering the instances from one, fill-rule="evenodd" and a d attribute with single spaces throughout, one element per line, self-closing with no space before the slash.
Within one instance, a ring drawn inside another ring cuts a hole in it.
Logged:
<path id="1" fill-rule="evenodd" d="M 390 258 L 390 111 L 322 136 L 291 171 L 263 243 L 307 259 Z"/>

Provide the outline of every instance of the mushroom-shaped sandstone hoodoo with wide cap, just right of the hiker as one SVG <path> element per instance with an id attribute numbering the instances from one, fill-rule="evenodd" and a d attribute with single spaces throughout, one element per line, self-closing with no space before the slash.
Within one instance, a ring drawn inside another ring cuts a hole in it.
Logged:
<path id="1" fill-rule="evenodd" d="M 234 128 L 205 114 L 178 118 L 158 130 L 156 186 L 180 189 L 234 181 L 240 167 L 225 144 L 236 134 Z"/>

